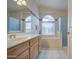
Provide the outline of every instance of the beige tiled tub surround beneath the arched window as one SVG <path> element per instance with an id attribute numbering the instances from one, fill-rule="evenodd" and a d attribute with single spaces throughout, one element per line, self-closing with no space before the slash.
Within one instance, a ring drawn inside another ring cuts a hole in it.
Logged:
<path id="1" fill-rule="evenodd" d="M 60 49 L 61 48 L 61 40 L 59 36 L 41 36 L 40 37 L 40 44 L 42 49 Z"/>

